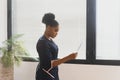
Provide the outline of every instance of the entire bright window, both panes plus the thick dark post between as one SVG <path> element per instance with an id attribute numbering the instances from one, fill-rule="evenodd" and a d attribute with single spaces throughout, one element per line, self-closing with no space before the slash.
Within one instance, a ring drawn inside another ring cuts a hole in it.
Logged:
<path id="1" fill-rule="evenodd" d="M 49 11 L 55 13 L 60 23 L 61 29 L 55 39 L 60 48 L 59 53 L 62 53 L 59 57 L 75 51 L 76 46 L 83 41 L 78 58 L 68 63 L 120 65 L 119 0 L 59 0 L 59 4 L 55 4 L 55 1 L 12 1 L 13 26 L 10 30 L 13 34 L 24 34 L 25 45 L 32 56 L 38 56 L 35 45 L 45 30 L 41 19 Z M 73 6 L 73 3 L 76 5 Z"/>

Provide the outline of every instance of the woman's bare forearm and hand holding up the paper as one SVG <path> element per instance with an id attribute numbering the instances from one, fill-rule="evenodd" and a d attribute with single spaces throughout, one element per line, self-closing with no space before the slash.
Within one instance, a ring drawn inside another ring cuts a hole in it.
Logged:
<path id="1" fill-rule="evenodd" d="M 52 61 L 51 61 L 51 66 L 52 66 L 52 67 L 58 66 L 58 65 L 60 65 L 61 63 L 64 63 L 64 62 L 67 62 L 67 61 L 69 61 L 69 60 L 75 59 L 76 56 L 77 56 L 77 53 L 72 53 L 72 54 L 70 54 L 70 55 L 68 55 L 68 56 L 66 56 L 66 57 L 64 57 L 64 58 L 62 58 L 62 59 L 52 60 Z"/>

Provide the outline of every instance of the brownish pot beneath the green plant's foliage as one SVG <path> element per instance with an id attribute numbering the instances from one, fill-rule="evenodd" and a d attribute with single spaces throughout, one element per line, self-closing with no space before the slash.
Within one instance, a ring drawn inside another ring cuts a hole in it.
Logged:
<path id="1" fill-rule="evenodd" d="M 0 80 L 14 80 L 14 67 L 5 68 L 0 63 Z"/>

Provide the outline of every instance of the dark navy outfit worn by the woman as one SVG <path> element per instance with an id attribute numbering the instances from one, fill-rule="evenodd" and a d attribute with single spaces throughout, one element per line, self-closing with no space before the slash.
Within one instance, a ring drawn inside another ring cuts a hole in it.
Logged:
<path id="1" fill-rule="evenodd" d="M 36 69 L 36 80 L 59 80 L 58 67 L 52 68 L 50 74 L 55 78 L 52 78 L 43 69 L 48 70 L 51 67 L 51 60 L 56 60 L 58 56 L 58 46 L 53 40 L 48 40 L 45 36 L 42 36 L 36 45 L 39 55 L 39 64 Z"/>

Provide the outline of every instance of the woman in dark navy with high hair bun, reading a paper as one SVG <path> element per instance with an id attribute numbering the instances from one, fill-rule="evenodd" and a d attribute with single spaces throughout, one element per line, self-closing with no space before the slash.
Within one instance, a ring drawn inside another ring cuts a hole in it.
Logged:
<path id="1" fill-rule="evenodd" d="M 75 59 L 77 53 L 72 53 L 62 59 L 57 59 L 58 46 L 52 38 L 57 36 L 59 23 L 55 20 L 55 15 L 52 13 L 46 13 L 43 16 L 42 22 L 46 25 L 46 29 L 36 46 L 40 58 L 36 70 L 36 80 L 59 80 L 58 65 Z"/>

